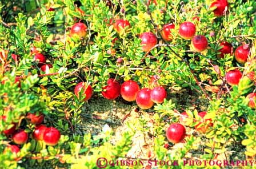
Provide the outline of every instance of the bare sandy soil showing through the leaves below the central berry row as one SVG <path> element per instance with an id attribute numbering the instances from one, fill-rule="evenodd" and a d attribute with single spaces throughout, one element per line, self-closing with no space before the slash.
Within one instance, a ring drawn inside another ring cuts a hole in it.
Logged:
<path id="1" fill-rule="evenodd" d="M 199 95 L 201 94 L 187 90 L 171 91 L 169 92 L 167 99 L 171 99 L 173 103 L 175 103 L 176 109 L 179 112 L 183 112 L 184 110 L 193 111 L 194 109 L 197 109 L 198 112 L 205 111 L 207 110 L 207 106 L 209 106 L 209 102 L 205 98 L 199 97 Z M 141 115 L 150 119 L 153 118 L 154 113 L 156 113 L 153 108 L 150 110 L 141 110 L 135 102 L 126 102 L 121 96 L 116 100 L 107 100 L 101 96 L 94 96 L 87 104 L 85 104 L 84 109 L 86 112 L 82 114 L 83 131 L 91 132 L 92 135 L 97 135 L 102 131 L 105 124 L 107 124 L 115 132 L 114 138 L 116 140 L 120 138 L 123 131 L 126 131 L 127 126 L 125 123 L 129 123 L 134 119 L 139 118 Z M 150 120 L 147 125 L 152 125 L 150 124 Z M 206 138 L 193 128 L 187 127 L 186 130 L 187 135 L 199 136 L 202 140 L 202 142 L 197 145 L 198 150 L 189 152 L 187 158 L 200 159 L 200 156 L 203 155 L 203 147 L 205 146 Z M 111 142 L 115 143 L 116 140 L 111 140 Z M 171 147 L 169 147 L 170 152 L 175 148 L 182 147 L 183 144 L 184 142 L 175 145 L 171 144 Z M 238 145 L 230 145 L 229 151 L 226 152 L 227 157 L 225 155 L 219 155 L 218 159 L 245 159 L 245 156 L 240 153 L 241 151 L 238 151 L 239 148 L 241 147 Z M 154 158 L 152 137 L 149 134 L 137 131 L 133 138 L 133 145 L 127 156 L 131 158 L 148 159 L 149 154 L 150 158 Z"/>

